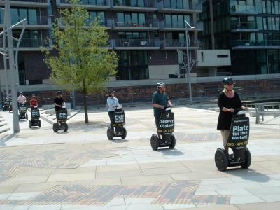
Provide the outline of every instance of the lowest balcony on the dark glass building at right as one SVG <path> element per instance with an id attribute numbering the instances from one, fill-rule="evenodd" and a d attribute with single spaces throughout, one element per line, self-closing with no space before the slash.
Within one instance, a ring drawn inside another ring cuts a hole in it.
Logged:
<path id="1" fill-rule="evenodd" d="M 232 49 L 233 50 L 280 49 L 280 40 L 266 40 L 266 41 L 234 40 L 232 41 Z"/>

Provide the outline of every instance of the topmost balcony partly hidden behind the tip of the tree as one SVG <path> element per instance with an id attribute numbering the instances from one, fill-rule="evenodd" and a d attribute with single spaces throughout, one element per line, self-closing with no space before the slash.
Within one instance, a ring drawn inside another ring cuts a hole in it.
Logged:
<path id="1" fill-rule="evenodd" d="M 57 8 L 69 8 L 71 7 L 71 0 L 56 0 Z M 94 10 L 108 10 L 110 6 L 110 0 L 80 0 L 80 4 L 87 9 Z"/>

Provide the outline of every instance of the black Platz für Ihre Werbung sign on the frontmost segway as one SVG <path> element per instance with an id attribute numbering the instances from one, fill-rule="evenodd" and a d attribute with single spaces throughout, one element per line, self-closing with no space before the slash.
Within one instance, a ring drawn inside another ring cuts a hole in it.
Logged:
<path id="1" fill-rule="evenodd" d="M 228 137 L 228 146 L 246 146 L 249 139 L 249 118 L 233 118 Z"/>

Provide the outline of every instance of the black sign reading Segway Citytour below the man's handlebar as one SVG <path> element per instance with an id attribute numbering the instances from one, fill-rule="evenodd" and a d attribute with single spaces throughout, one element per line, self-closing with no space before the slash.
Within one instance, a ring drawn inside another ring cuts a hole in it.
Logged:
<path id="1" fill-rule="evenodd" d="M 158 132 L 160 134 L 168 134 L 174 132 L 175 122 L 174 113 L 162 113 L 160 123 L 158 124 Z"/>

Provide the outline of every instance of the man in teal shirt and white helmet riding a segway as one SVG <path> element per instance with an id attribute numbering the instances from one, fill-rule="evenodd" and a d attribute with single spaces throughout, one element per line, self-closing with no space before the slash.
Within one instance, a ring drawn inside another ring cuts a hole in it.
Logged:
<path id="1" fill-rule="evenodd" d="M 166 85 L 165 83 L 157 83 L 158 90 L 153 93 L 153 116 L 155 117 L 155 125 L 158 127 L 158 123 L 160 122 L 160 114 L 162 111 L 165 111 L 165 107 L 167 104 L 169 106 L 172 106 L 172 103 L 169 100 L 169 97 L 165 93 L 166 91 Z M 158 137 L 160 138 L 160 135 L 158 134 Z"/>

